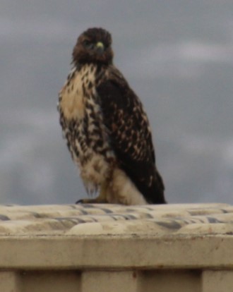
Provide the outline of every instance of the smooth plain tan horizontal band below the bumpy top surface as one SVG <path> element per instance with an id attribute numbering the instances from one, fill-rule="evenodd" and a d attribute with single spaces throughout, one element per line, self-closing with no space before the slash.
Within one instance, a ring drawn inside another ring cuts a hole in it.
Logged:
<path id="1" fill-rule="evenodd" d="M 2 269 L 232 269 L 232 236 L 1 238 Z"/>

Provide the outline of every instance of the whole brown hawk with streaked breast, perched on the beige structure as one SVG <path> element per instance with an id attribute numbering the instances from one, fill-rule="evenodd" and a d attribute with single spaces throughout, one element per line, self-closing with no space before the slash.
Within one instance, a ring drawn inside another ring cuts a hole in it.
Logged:
<path id="1" fill-rule="evenodd" d="M 88 194 L 83 203 L 165 203 L 155 166 L 148 118 L 140 99 L 113 65 L 112 37 L 102 28 L 83 32 L 71 73 L 59 92 L 60 123 Z"/>

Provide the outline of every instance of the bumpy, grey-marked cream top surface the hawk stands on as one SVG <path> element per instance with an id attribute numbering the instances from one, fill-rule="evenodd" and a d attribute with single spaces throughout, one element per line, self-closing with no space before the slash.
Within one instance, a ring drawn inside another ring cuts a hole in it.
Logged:
<path id="1" fill-rule="evenodd" d="M 233 206 L 38 205 L 0 206 L 0 236 L 102 234 L 226 234 Z"/>

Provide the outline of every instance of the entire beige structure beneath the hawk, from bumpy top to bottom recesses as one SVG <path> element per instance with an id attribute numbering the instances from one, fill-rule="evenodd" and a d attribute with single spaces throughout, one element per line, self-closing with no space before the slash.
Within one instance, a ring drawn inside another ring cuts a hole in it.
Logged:
<path id="1" fill-rule="evenodd" d="M 226 204 L 0 206 L 0 292 L 232 292 Z"/>

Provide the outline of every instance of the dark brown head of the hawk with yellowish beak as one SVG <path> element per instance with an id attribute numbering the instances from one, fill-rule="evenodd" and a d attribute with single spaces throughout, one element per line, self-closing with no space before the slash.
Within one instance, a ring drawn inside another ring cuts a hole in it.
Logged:
<path id="1" fill-rule="evenodd" d="M 78 37 L 73 48 L 73 62 L 81 63 L 112 63 L 112 37 L 102 28 L 89 28 Z"/>

